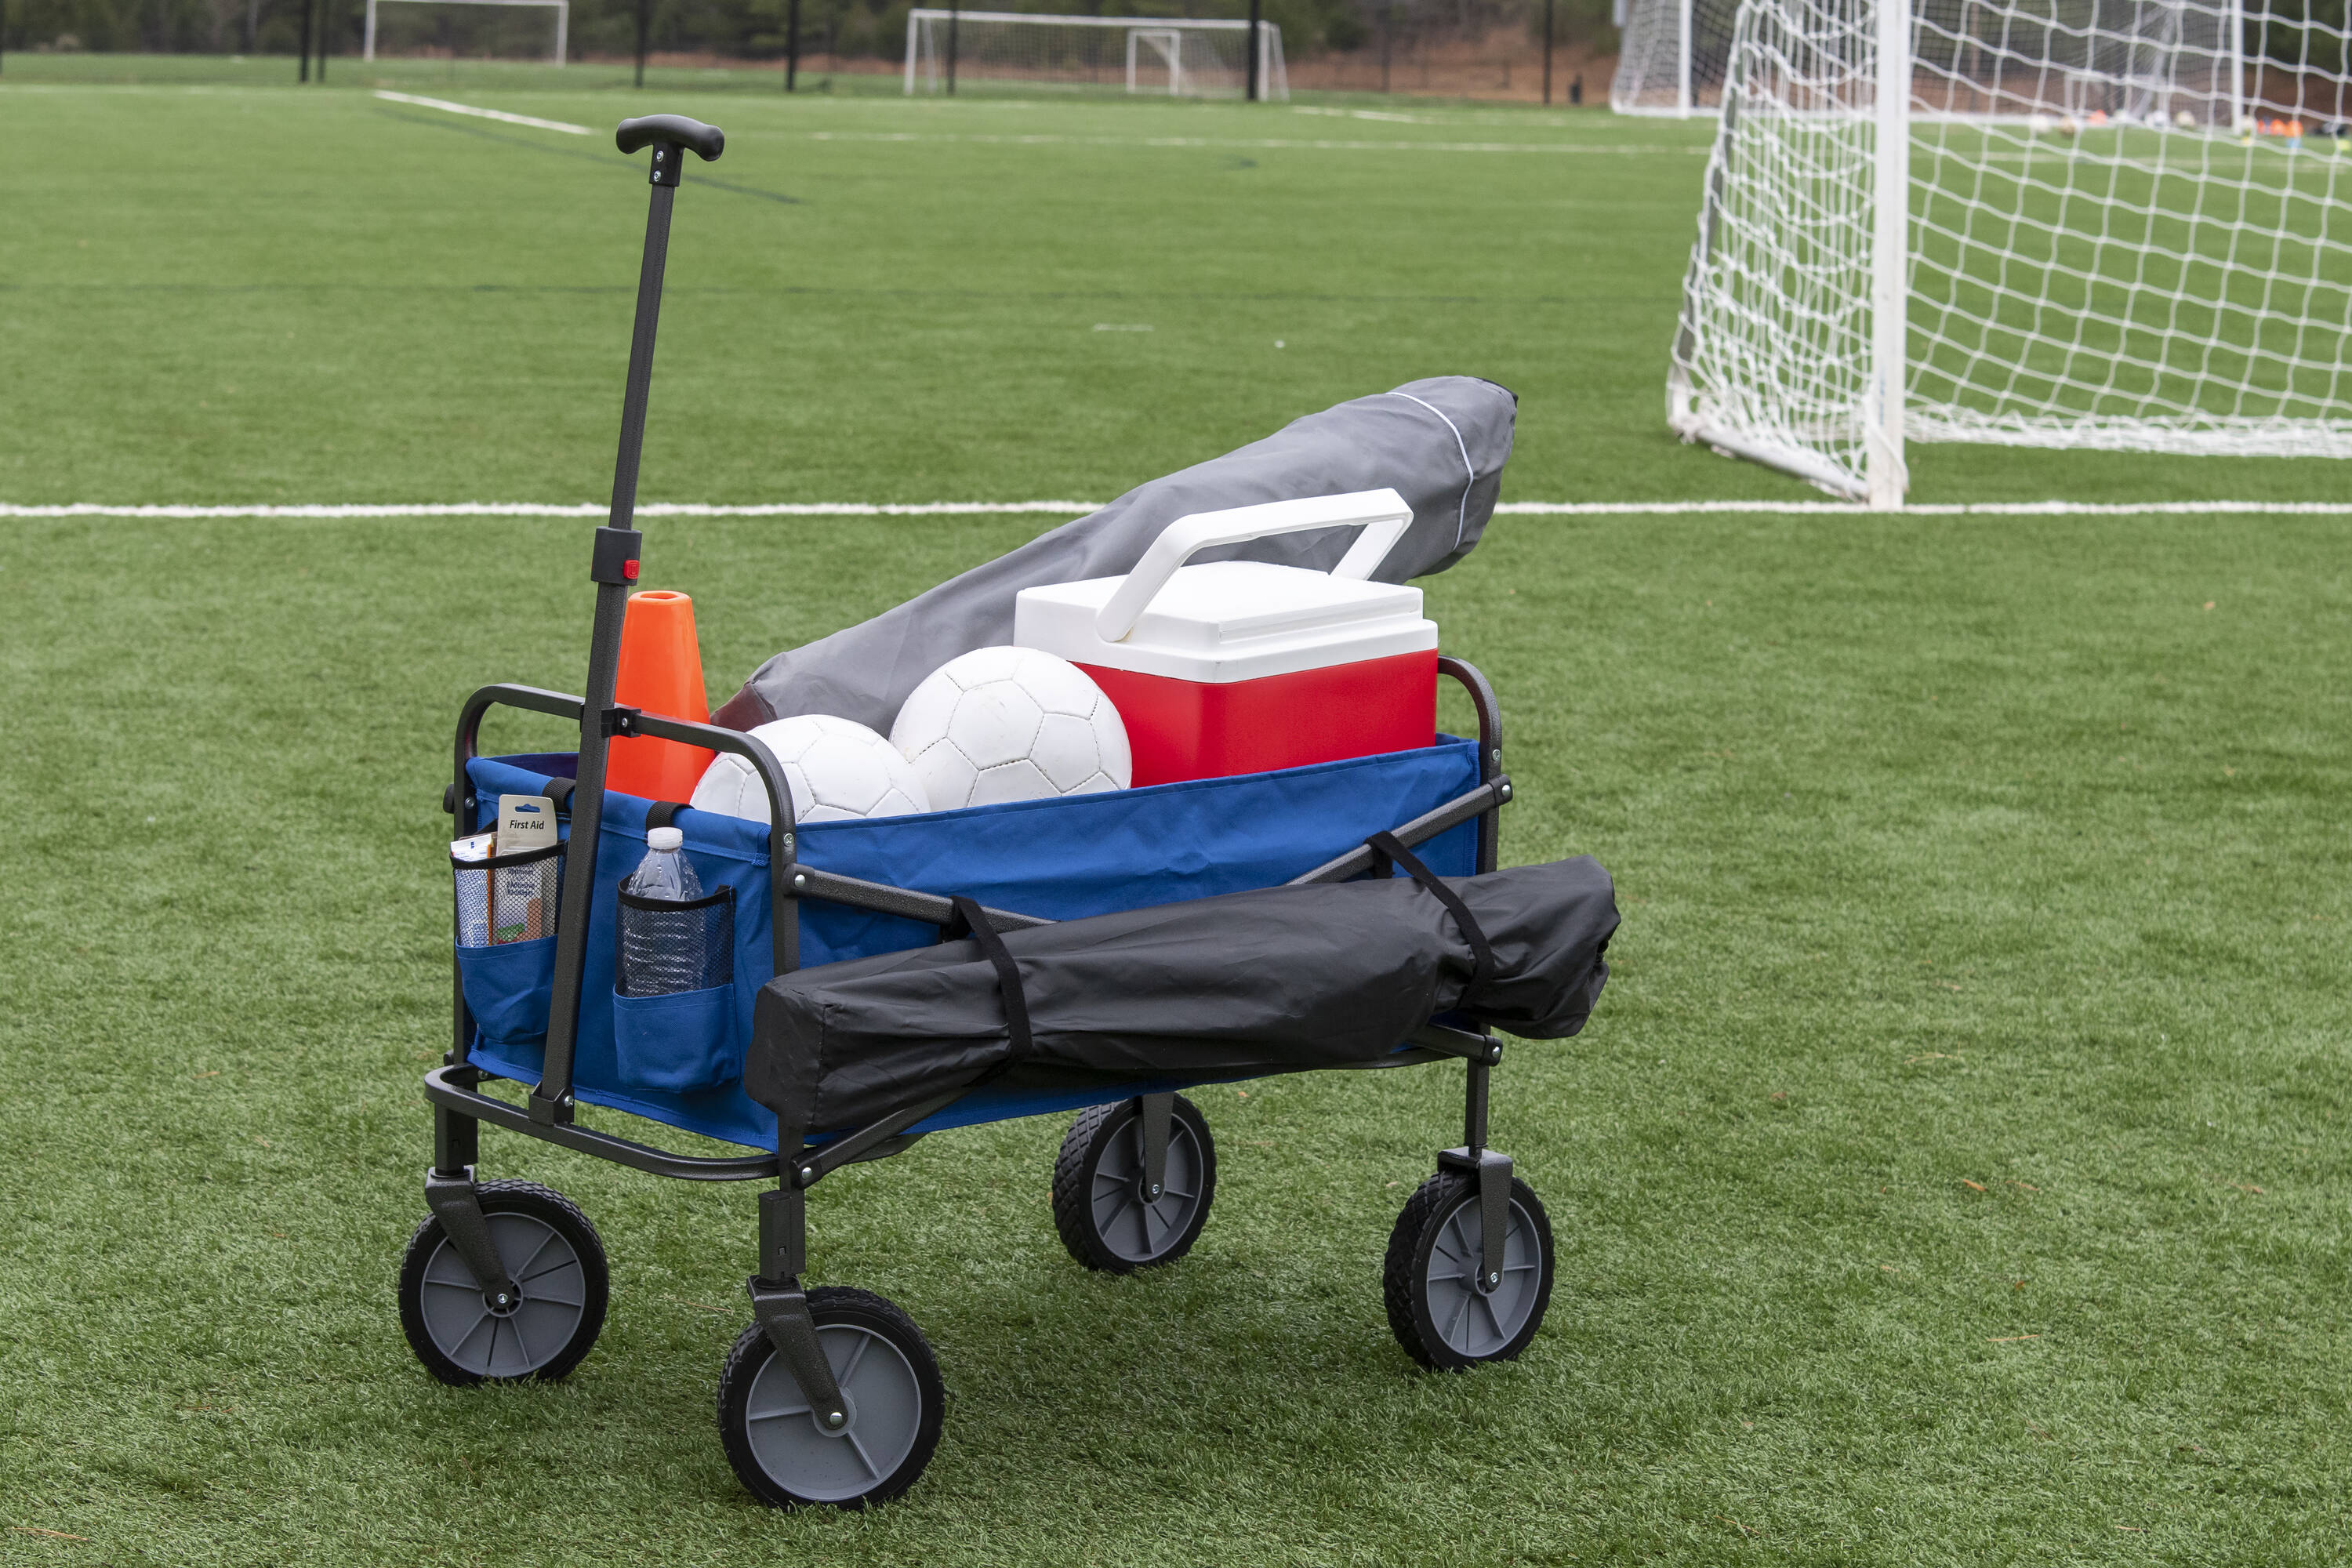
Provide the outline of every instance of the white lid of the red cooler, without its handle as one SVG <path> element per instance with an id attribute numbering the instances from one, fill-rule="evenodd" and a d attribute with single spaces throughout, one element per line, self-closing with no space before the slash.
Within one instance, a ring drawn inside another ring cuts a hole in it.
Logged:
<path id="1" fill-rule="evenodd" d="M 1437 646 L 1437 623 L 1421 616 L 1418 588 L 1270 562 L 1178 567 L 1136 630 L 1108 642 L 1096 621 L 1122 583 L 1124 576 L 1108 576 L 1023 588 L 1014 599 L 1014 642 L 1080 665 L 1211 684 Z"/>

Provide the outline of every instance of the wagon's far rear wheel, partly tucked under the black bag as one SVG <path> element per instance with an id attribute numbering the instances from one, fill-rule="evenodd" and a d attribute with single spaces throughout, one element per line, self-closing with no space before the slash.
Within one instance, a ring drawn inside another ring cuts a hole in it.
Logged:
<path id="1" fill-rule="evenodd" d="M 1141 1168 L 1143 1112 L 1136 1100 L 1080 1112 L 1063 1135 L 1054 1161 L 1054 1229 L 1089 1269 L 1134 1274 L 1176 1262 L 1192 1251 L 1200 1227 L 1209 1222 L 1209 1206 L 1216 1201 L 1216 1140 L 1197 1105 L 1176 1095 L 1169 1114 L 1167 1192 L 1155 1204 L 1122 1187 Z M 1192 1185 L 1185 1190 L 1181 1182 Z M 1124 1234 L 1127 1215 L 1136 1215 L 1134 1239 Z"/>

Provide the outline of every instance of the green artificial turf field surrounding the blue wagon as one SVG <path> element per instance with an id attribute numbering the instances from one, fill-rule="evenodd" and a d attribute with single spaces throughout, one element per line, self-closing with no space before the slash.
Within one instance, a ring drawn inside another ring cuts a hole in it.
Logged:
<path id="1" fill-rule="evenodd" d="M 602 136 L 7 71 L 0 501 L 604 491 L 644 195 Z M 677 209 L 647 498 L 1105 498 L 1437 371 L 1522 395 L 1505 498 L 1806 496 L 1663 433 L 1693 127 L 659 106 L 729 153 Z M 1915 463 L 1919 501 L 2345 494 Z M 647 581 L 727 689 L 1047 524 L 663 522 Z M 393 1314 L 447 729 L 576 686 L 586 585 L 508 562 L 588 524 L 5 527 L 0 1561 L 2343 1556 L 2340 522 L 1498 520 L 1428 590 L 1503 691 L 1505 858 L 1590 851 L 1625 910 L 1592 1027 L 1498 1077 L 1545 1333 L 1423 1378 L 1381 1321 L 1446 1072 L 1207 1095 L 1218 1211 L 1143 1279 L 1061 1253 L 1058 1121 L 934 1138 L 814 1204 L 816 1276 L 906 1305 L 953 1394 L 870 1516 L 762 1512 L 720 1455 L 748 1192 L 492 1133 L 600 1225 L 604 1338 L 452 1392 Z"/>

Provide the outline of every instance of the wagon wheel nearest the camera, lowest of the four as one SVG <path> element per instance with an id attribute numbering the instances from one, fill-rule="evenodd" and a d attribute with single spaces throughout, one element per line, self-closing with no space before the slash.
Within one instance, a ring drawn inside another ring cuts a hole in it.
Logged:
<path id="1" fill-rule="evenodd" d="M 849 1399 L 849 1427 L 840 1436 L 826 1434 L 807 1408 L 753 1413 L 753 1399 L 776 1399 L 779 1392 L 790 1399 L 800 1392 L 767 1331 L 753 1324 L 720 1371 L 720 1443 L 727 1462 L 743 1490 L 776 1509 L 863 1509 L 889 1502 L 915 1486 L 938 1450 L 938 1422 L 948 1403 L 938 1359 L 915 1319 L 873 1291 L 818 1286 L 809 1291 L 809 1316 L 816 1319 L 816 1342 Z M 884 1359 L 884 1345 L 898 1352 L 896 1361 Z M 861 1396 L 868 1401 L 866 1410 L 858 1408 Z M 882 1413 L 887 1420 L 877 1425 Z M 769 1427 L 771 1420 L 793 1425 Z M 868 1422 L 863 1436 L 861 1420 Z M 866 1439 L 884 1441 L 887 1450 L 875 1458 Z"/>

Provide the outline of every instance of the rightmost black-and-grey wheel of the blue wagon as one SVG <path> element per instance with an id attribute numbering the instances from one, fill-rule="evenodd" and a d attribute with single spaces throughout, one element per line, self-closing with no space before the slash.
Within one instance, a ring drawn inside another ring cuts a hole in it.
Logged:
<path id="1" fill-rule="evenodd" d="M 1552 1218 L 1519 1178 L 1510 1180 L 1510 1208 L 1503 1288 L 1491 1295 L 1468 1284 L 1479 1246 L 1477 1180 L 1463 1171 L 1439 1171 L 1421 1182 L 1397 1215 L 1397 1227 L 1388 1234 L 1381 1298 L 1388 1302 L 1390 1333 L 1421 1366 L 1458 1373 L 1482 1361 L 1510 1361 L 1543 1326 L 1552 1305 Z M 1463 1284 L 1454 1284 L 1456 1279 Z"/>

